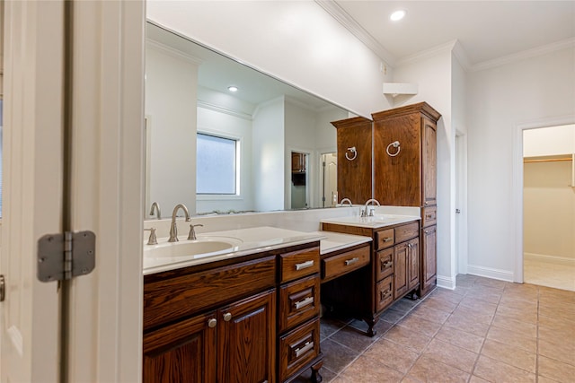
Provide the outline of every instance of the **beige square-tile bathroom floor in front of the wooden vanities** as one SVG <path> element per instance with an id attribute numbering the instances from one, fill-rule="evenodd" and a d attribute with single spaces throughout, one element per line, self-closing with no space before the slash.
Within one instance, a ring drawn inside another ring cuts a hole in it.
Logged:
<path id="1" fill-rule="evenodd" d="M 575 382 L 575 292 L 473 275 L 456 284 L 396 302 L 373 338 L 363 322 L 323 318 L 323 381 Z"/>

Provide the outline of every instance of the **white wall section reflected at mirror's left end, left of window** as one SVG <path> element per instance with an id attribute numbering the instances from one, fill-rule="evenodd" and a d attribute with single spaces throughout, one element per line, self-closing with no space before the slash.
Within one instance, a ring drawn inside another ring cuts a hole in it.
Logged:
<path id="1" fill-rule="evenodd" d="M 182 203 L 196 211 L 197 74 L 190 60 L 146 44 L 146 117 L 152 130 L 147 182 L 149 200 L 164 215 Z"/>

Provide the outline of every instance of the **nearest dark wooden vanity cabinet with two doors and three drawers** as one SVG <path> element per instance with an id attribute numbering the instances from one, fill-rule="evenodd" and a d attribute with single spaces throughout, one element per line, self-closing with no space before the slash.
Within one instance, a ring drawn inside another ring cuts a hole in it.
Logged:
<path id="1" fill-rule="evenodd" d="M 321 381 L 319 241 L 145 275 L 144 382 Z"/>

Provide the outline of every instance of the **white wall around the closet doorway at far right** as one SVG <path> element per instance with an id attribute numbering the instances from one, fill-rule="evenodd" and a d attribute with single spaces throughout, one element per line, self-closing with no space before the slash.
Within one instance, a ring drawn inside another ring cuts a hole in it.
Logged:
<path id="1" fill-rule="evenodd" d="M 574 117 L 574 58 L 575 49 L 564 48 L 469 76 L 470 273 L 517 276 L 515 231 L 521 222 L 513 206 L 521 196 L 512 193 L 515 137 L 521 125 Z"/>

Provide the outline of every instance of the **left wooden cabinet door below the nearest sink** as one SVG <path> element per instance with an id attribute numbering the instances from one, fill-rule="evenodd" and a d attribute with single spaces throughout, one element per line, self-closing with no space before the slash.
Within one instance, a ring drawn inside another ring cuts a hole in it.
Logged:
<path id="1" fill-rule="evenodd" d="M 216 313 L 144 335 L 143 382 L 215 382 Z"/>

